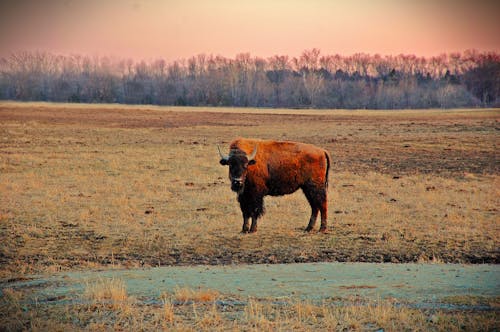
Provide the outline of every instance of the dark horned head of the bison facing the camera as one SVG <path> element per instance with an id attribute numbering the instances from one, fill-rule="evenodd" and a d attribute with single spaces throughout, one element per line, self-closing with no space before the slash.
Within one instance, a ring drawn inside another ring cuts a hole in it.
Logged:
<path id="1" fill-rule="evenodd" d="M 255 164 L 255 155 L 257 154 L 257 146 L 253 152 L 247 155 L 244 151 L 234 149 L 229 152 L 229 155 L 223 155 L 217 145 L 221 156 L 220 164 L 229 165 L 229 180 L 231 180 L 231 190 L 241 194 L 245 187 L 245 179 L 247 176 L 248 166 Z"/>

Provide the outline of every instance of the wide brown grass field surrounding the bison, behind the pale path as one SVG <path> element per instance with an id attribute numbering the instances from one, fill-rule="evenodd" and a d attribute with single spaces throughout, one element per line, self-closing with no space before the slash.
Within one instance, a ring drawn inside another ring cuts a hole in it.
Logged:
<path id="1" fill-rule="evenodd" d="M 222 112 L 223 111 L 223 112 Z M 498 110 L 347 112 L 0 104 L 0 276 L 99 266 L 499 262 Z M 215 144 L 333 156 L 329 234 L 302 193 L 254 235 Z"/>

